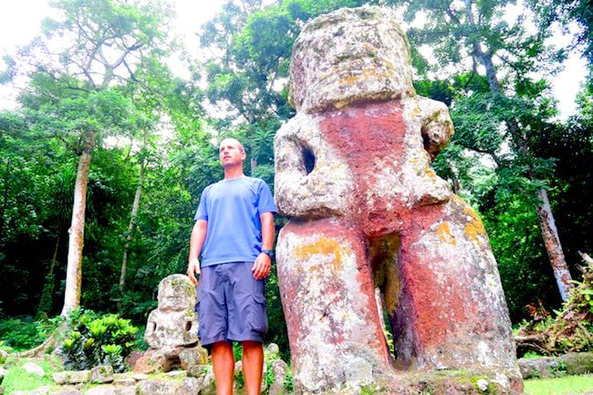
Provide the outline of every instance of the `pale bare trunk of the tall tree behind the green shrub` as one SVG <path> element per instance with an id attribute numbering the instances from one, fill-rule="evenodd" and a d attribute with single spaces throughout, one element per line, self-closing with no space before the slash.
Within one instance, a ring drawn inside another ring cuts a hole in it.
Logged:
<path id="1" fill-rule="evenodd" d="M 80 306 L 82 284 L 82 247 L 85 233 L 85 210 L 87 208 L 88 172 L 90 159 L 95 145 L 95 131 L 87 133 L 80 159 L 78 160 L 77 179 L 74 185 L 74 204 L 72 205 L 72 223 L 68 229 L 68 266 L 66 270 L 66 290 L 64 307 L 61 315 L 66 317 L 70 311 Z"/>

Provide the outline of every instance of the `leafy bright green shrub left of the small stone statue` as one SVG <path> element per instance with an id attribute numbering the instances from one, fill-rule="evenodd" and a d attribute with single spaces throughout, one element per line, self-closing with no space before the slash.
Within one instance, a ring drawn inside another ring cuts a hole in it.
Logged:
<path id="1" fill-rule="evenodd" d="M 64 366 L 84 370 L 111 365 L 114 371 L 122 372 L 137 330 L 129 319 L 115 314 L 99 317 L 90 310 L 76 310 L 68 317 L 68 333 L 59 348 Z"/>

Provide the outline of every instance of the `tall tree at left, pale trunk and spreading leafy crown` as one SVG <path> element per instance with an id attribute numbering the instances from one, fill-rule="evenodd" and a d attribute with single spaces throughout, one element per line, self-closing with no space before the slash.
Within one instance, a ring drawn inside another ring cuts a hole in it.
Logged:
<path id="1" fill-rule="evenodd" d="M 80 303 L 88 172 L 93 150 L 109 135 L 150 128 L 126 87 L 150 90 L 165 70 L 171 9 L 159 1 L 56 0 L 56 19 L 26 48 L 32 78 L 21 95 L 36 128 L 78 155 L 62 315 Z M 28 66 L 28 67 L 26 67 Z"/>

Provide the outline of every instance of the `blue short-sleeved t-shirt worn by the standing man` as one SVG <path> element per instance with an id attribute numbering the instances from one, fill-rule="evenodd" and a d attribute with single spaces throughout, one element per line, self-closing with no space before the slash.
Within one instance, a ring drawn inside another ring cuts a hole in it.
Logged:
<path id="1" fill-rule="evenodd" d="M 193 217 L 208 222 L 202 266 L 254 262 L 262 248 L 261 213 L 276 213 L 263 180 L 243 176 L 208 185 Z"/>

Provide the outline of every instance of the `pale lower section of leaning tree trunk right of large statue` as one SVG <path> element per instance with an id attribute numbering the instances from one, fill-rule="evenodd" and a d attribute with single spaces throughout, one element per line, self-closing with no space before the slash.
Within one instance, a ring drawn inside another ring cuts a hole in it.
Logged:
<path id="1" fill-rule="evenodd" d="M 567 300 L 569 291 L 573 287 L 572 277 L 568 271 L 567 260 L 562 251 L 554 215 L 552 214 L 550 203 L 547 200 L 547 192 L 545 189 L 540 189 L 538 195 L 542 202 L 537 207 L 537 216 L 541 224 L 542 237 L 544 238 L 547 255 L 550 258 L 550 263 L 554 270 L 560 296 L 562 296 L 562 300 Z"/>

